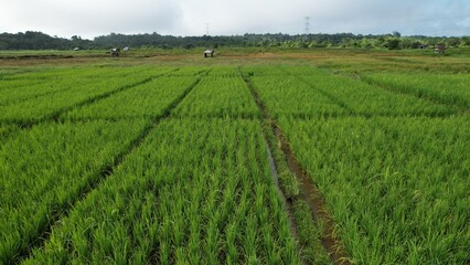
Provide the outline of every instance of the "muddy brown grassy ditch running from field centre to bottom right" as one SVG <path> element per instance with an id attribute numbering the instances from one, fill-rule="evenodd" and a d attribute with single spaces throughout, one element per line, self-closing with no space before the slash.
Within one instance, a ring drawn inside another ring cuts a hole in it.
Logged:
<path id="1" fill-rule="evenodd" d="M 293 155 L 293 151 L 291 150 L 290 144 L 288 142 L 287 138 L 284 136 L 280 127 L 276 124 L 276 120 L 273 118 L 273 116 L 269 114 L 266 106 L 263 104 L 263 102 L 259 98 L 259 95 L 253 87 L 253 84 L 250 83 L 249 78 L 243 75 L 242 71 L 239 71 L 241 77 L 245 81 L 245 84 L 249 88 L 256 104 L 258 105 L 259 109 L 261 110 L 261 124 L 264 124 L 263 134 L 265 139 L 271 135 L 274 137 L 273 140 L 276 140 L 277 148 L 280 149 L 282 152 L 284 160 L 274 159 L 275 163 L 275 170 L 279 167 L 279 163 L 287 163 L 287 167 L 289 171 L 293 174 L 292 178 L 293 181 L 298 182 L 299 184 L 299 192 L 296 194 L 295 192 L 292 194 L 286 194 L 286 191 L 282 191 L 282 189 L 286 189 L 285 187 L 279 187 L 278 181 L 276 181 L 276 177 L 278 177 L 278 171 L 276 171 L 275 182 L 276 188 L 278 192 L 280 192 L 280 197 L 285 199 L 286 205 L 287 205 L 287 212 L 290 219 L 291 224 L 291 231 L 292 235 L 298 237 L 299 240 L 299 227 L 298 224 L 302 222 L 302 220 L 298 220 L 295 215 L 295 208 L 296 203 L 307 203 L 310 210 L 310 215 L 316 223 L 318 230 L 320 230 L 319 240 L 321 240 L 321 244 L 323 248 L 328 252 L 328 255 L 331 259 L 331 262 L 335 265 L 346 265 L 350 264 L 350 258 L 346 254 L 346 252 L 343 250 L 343 246 L 339 239 L 334 235 L 334 223 L 327 211 L 325 203 L 322 199 L 321 192 L 318 190 L 318 188 L 314 186 L 312 180 L 308 177 L 308 174 L 305 172 L 305 170 L 301 168 L 300 163 L 298 162 L 296 156 Z M 267 146 L 270 149 L 270 152 L 273 152 L 273 149 L 276 148 L 274 142 L 270 142 L 267 140 Z M 303 221 L 305 222 L 305 221 Z M 321 224 L 321 225 L 320 225 Z M 321 226 L 321 227 L 320 227 Z M 307 247 L 302 242 L 299 242 L 299 248 Z M 307 263 L 312 263 L 312 261 L 307 261 Z"/>

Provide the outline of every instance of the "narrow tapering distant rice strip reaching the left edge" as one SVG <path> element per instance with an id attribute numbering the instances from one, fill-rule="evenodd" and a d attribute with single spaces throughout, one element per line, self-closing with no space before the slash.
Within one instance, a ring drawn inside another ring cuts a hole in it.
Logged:
<path id="1" fill-rule="evenodd" d="M 76 104 L 143 82 L 168 68 L 129 76 L 102 78 L 63 92 L 46 94 L 13 105 L 0 106 L 0 121 L 31 123 L 70 108 Z"/>

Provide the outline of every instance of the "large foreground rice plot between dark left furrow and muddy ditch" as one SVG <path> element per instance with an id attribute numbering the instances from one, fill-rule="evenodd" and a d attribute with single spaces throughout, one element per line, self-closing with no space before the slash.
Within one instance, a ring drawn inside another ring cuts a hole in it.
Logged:
<path id="1" fill-rule="evenodd" d="M 163 120 L 24 264 L 298 264 L 260 125 Z"/>

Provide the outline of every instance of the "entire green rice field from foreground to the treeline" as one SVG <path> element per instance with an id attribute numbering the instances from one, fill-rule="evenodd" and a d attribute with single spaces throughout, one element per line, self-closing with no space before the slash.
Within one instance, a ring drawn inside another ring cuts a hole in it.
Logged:
<path id="1" fill-rule="evenodd" d="M 259 49 L 2 59 L 0 264 L 467 264 L 469 54 Z"/>

